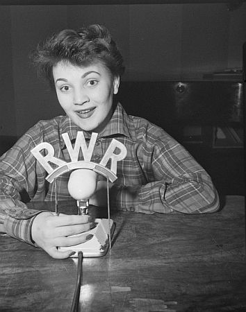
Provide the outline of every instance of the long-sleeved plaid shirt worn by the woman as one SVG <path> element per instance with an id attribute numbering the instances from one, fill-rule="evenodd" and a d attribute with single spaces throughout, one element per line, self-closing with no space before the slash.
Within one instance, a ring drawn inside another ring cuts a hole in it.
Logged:
<path id="1" fill-rule="evenodd" d="M 0 200 L 13 198 L 19 202 L 21 193 L 28 194 L 32 201 L 54 200 L 54 183 L 45 180 L 47 172 L 30 150 L 45 141 L 54 147 L 55 157 L 70 162 L 62 134 L 67 132 L 74 142 L 79 130 L 68 116 L 39 121 L 28 130 L 0 158 Z M 90 140 L 87 132 L 84 135 Z M 211 177 L 163 129 L 140 117 L 129 116 L 118 103 L 110 122 L 97 137 L 92 162 L 101 161 L 113 138 L 126 146 L 127 155 L 117 162 L 117 180 L 110 189 L 112 209 L 147 214 L 218 210 L 218 193 Z M 79 160 L 83 160 L 82 154 Z M 69 173 L 65 173 L 56 179 L 58 200 L 71 199 L 68 178 Z M 19 206 L 4 211 L 0 207 L 0 226 L 10 236 L 32 243 L 31 224 L 40 211 Z"/>

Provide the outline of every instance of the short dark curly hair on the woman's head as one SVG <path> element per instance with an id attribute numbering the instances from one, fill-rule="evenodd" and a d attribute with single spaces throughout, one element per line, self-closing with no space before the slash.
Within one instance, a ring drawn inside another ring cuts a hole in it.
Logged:
<path id="1" fill-rule="evenodd" d="M 100 62 L 113 74 L 122 76 L 122 55 L 105 26 L 94 24 L 74 31 L 65 29 L 51 35 L 31 53 L 31 60 L 38 73 L 54 86 L 52 69 L 60 61 L 77 66 Z"/>

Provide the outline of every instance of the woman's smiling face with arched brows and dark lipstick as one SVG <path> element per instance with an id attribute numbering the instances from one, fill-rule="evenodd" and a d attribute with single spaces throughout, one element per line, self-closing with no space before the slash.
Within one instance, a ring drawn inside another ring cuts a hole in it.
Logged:
<path id="1" fill-rule="evenodd" d="M 88 67 L 58 62 L 53 76 L 67 116 L 82 130 L 101 132 L 113 114 L 113 94 L 118 92 L 120 78 L 99 62 Z"/>

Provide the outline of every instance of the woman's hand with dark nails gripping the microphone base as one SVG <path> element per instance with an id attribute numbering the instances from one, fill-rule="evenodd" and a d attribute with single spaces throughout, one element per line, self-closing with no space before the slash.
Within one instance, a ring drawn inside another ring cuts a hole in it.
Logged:
<path id="1" fill-rule="evenodd" d="M 88 231 L 94 225 L 94 217 L 88 215 L 55 216 L 49 211 L 38 214 L 33 220 L 31 235 L 33 241 L 51 257 L 65 259 L 73 250 L 59 251 L 57 246 L 73 246 L 92 238 L 90 234 L 72 236 Z"/>

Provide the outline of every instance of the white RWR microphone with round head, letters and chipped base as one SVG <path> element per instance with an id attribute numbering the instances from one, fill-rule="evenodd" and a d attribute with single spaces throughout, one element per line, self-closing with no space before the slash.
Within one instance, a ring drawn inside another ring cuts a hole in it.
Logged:
<path id="1" fill-rule="evenodd" d="M 116 139 L 112 139 L 106 149 L 101 162 L 91 162 L 92 153 L 97 141 L 97 133 L 92 132 L 89 144 L 85 141 L 83 131 L 78 131 L 74 146 L 68 133 L 63 133 L 63 141 L 67 146 L 67 152 L 71 162 L 55 157 L 55 149 L 49 142 L 41 142 L 31 150 L 33 156 L 47 171 L 47 182 L 55 182 L 56 215 L 58 216 L 58 201 L 56 193 L 56 178 L 64 173 L 71 172 L 67 189 L 70 196 L 77 201 L 78 213 L 88 214 L 89 200 L 97 191 L 97 175 L 102 175 L 107 181 L 108 218 L 96 218 L 95 227 L 88 230 L 93 237 L 79 245 L 72 246 L 76 251 L 72 257 L 78 257 L 78 252 L 83 252 L 83 257 L 101 257 L 111 248 L 111 236 L 115 229 L 115 223 L 110 219 L 109 187 L 108 183 L 117 180 L 117 162 L 122 161 L 126 155 L 126 146 Z M 45 153 L 42 153 L 45 150 Z M 82 152 L 83 160 L 79 160 Z M 110 168 L 108 168 L 110 162 Z M 53 164 L 53 166 L 51 166 Z M 56 168 L 54 168 L 54 165 Z M 76 234 L 76 236 L 81 234 Z M 71 250 L 71 246 L 58 246 L 59 250 Z"/>

